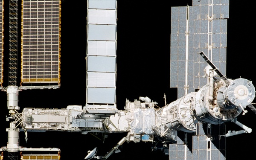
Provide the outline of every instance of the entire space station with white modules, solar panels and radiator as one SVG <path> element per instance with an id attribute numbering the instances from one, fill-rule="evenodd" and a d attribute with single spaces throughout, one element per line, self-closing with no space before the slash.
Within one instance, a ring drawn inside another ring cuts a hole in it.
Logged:
<path id="1" fill-rule="evenodd" d="M 0 148 L 0 160 L 6 158 L 3 152 L 8 153 L 8 160 L 61 159 L 60 148 L 20 146 L 20 132 L 24 132 L 26 140 L 29 132 L 125 134 L 105 155 L 98 155 L 97 147 L 92 147 L 84 154 L 87 160 L 108 159 L 120 152 L 125 142 L 154 144 L 153 149 L 162 149 L 169 160 L 225 160 L 226 137 L 252 132 L 237 117 L 246 115 L 247 108 L 256 113 L 252 105 L 255 87 L 248 79 L 225 76 L 229 0 L 193 0 L 192 6 L 172 7 L 170 87 L 177 88 L 177 100 L 158 108 L 152 97 L 140 96 L 133 102 L 127 99 L 124 110 L 116 104 L 116 0 L 87 0 L 86 104 L 62 109 L 18 105 L 21 91 L 60 88 L 61 0 L 22 0 L 21 4 L 9 0 L 6 87 L 3 4 L 4 0 L 0 0 L 0 89 L 7 94 L 9 128 L 7 145 Z M 17 27 L 19 5 L 21 30 Z M 21 52 L 17 49 L 18 33 Z M 233 122 L 241 130 L 226 131 L 225 122 Z"/>

